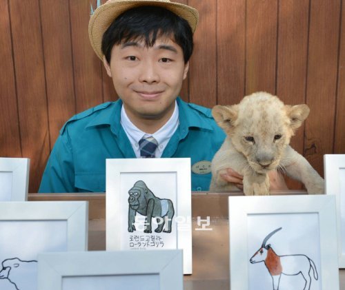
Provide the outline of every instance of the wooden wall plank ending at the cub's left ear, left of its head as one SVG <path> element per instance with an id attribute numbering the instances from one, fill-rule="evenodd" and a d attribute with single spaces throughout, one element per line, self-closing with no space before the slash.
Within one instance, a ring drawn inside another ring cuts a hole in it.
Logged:
<path id="1" fill-rule="evenodd" d="M 217 1 L 217 103 L 244 97 L 246 1 Z"/>

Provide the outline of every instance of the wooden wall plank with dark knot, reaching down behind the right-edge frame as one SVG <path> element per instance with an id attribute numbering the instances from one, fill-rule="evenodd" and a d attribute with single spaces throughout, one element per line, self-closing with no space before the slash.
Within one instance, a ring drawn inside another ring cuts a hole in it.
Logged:
<path id="1" fill-rule="evenodd" d="M 323 175 L 323 155 L 333 152 L 339 1 L 311 1 L 304 155 Z"/>

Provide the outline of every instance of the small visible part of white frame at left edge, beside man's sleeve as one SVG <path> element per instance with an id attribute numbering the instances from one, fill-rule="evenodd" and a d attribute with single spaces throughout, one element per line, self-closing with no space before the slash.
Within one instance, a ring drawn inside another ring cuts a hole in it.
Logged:
<path id="1" fill-rule="evenodd" d="M 28 200 L 30 159 L 0 158 L 0 201 Z"/>

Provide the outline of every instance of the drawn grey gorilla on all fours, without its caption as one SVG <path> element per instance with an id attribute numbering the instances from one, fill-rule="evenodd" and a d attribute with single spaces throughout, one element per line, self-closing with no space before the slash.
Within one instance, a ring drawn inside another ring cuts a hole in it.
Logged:
<path id="1" fill-rule="evenodd" d="M 139 180 L 128 191 L 128 231 L 135 231 L 135 214 L 146 216 L 144 233 L 151 233 L 152 218 L 157 218 L 158 227 L 156 233 L 161 233 L 164 225 L 164 233 L 171 233 L 171 222 L 174 216 L 174 205 L 170 199 L 157 198 L 144 181 Z"/>

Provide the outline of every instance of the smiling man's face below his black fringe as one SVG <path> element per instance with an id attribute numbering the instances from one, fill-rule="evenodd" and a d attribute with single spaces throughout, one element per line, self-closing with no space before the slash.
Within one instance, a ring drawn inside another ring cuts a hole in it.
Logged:
<path id="1" fill-rule="evenodd" d="M 110 65 L 104 65 L 132 123 L 168 121 L 188 72 L 179 45 L 167 38 L 152 48 L 141 41 L 114 45 Z"/>

